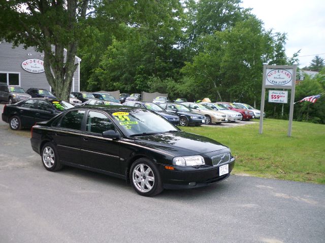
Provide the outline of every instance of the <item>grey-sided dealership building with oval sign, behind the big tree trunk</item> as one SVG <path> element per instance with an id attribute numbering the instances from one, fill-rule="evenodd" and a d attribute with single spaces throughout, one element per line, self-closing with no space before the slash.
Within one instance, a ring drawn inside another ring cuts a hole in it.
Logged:
<path id="1" fill-rule="evenodd" d="M 67 50 L 64 49 L 64 55 Z M 47 82 L 44 66 L 44 54 L 35 51 L 34 47 L 27 49 L 23 45 L 13 47 L 11 43 L 0 42 L 0 83 L 18 85 L 25 91 L 29 88 L 39 88 L 51 91 Z M 75 63 L 78 63 L 73 76 L 71 90 L 80 90 L 80 62 L 76 56 Z"/>

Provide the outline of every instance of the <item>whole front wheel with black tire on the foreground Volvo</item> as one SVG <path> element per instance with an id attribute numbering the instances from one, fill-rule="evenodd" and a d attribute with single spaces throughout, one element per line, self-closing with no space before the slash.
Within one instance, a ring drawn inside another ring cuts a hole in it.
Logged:
<path id="1" fill-rule="evenodd" d="M 133 188 L 142 196 L 154 196 L 163 191 L 159 172 L 147 158 L 139 158 L 133 163 L 129 177 Z"/>

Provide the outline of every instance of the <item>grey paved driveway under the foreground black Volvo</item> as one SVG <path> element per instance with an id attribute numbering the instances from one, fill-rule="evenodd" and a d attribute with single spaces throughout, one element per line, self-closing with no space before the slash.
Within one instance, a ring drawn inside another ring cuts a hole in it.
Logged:
<path id="1" fill-rule="evenodd" d="M 139 196 L 123 180 L 52 173 L 0 122 L 0 242 L 324 242 L 325 186 L 231 176 Z"/>

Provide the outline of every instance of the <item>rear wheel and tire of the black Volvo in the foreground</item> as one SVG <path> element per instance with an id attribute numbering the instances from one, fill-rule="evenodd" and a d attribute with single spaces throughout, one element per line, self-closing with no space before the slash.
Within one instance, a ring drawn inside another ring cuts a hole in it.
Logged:
<path id="1" fill-rule="evenodd" d="M 46 143 L 42 148 L 42 162 L 43 166 L 48 171 L 58 171 L 62 169 L 59 163 L 57 151 L 53 143 Z"/>

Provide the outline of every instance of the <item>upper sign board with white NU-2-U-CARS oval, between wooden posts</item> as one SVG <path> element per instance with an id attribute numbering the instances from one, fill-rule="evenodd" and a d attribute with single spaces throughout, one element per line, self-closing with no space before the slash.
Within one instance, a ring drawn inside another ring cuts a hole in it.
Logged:
<path id="1" fill-rule="evenodd" d="M 291 86 L 293 82 L 293 69 L 271 69 L 266 70 L 265 85 Z"/>

